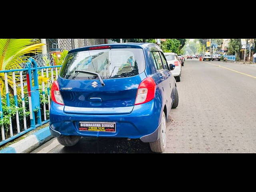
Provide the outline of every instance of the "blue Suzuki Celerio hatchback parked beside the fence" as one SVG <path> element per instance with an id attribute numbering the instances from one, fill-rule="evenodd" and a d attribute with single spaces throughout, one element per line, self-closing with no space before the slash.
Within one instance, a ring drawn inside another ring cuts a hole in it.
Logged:
<path id="1" fill-rule="evenodd" d="M 140 138 L 164 152 L 176 80 L 159 46 L 103 44 L 70 50 L 52 84 L 50 131 L 64 146 L 81 137 Z"/>

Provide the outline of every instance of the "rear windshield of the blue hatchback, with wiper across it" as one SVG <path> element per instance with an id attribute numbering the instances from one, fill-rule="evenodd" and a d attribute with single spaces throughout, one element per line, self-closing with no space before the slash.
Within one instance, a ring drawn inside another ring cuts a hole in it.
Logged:
<path id="1" fill-rule="evenodd" d="M 102 79 L 124 78 L 141 74 L 145 70 L 142 49 L 105 49 L 70 53 L 66 56 L 60 77 L 65 79 L 98 79 L 98 76 L 76 72 L 96 72 Z"/>

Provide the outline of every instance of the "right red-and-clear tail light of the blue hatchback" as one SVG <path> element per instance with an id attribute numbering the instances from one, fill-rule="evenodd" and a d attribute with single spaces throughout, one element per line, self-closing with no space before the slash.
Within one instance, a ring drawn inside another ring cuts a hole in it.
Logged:
<path id="1" fill-rule="evenodd" d="M 137 91 L 135 105 L 140 105 L 154 99 L 156 93 L 156 83 L 152 77 L 147 77 L 144 79 Z"/>

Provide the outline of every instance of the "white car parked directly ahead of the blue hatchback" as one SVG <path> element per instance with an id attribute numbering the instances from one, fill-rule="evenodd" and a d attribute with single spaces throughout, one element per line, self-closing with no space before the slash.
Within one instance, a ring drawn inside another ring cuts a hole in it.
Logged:
<path id="1" fill-rule="evenodd" d="M 172 70 L 172 75 L 175 77 L 177 82 L 180 82 L 181 76 L 181 61 L 176 53 L 164 53 L 164 56 L 168 62 L 168 64 L 175 65 L 174 70 Z"/>

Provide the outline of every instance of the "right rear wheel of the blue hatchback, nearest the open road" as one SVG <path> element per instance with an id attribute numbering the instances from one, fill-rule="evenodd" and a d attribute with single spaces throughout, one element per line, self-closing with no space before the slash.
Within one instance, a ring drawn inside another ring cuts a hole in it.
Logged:
<path id="1" fill-rule="evenodd" d="M 162 113 L 161 126 L 160 126 L 160 137 L 154 141 L 150 142 L 150 149 L 152 152 L 162 153 L 166 148 L 166 116 Z"/>

